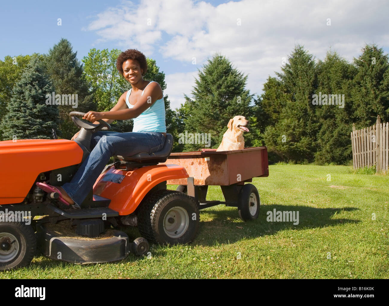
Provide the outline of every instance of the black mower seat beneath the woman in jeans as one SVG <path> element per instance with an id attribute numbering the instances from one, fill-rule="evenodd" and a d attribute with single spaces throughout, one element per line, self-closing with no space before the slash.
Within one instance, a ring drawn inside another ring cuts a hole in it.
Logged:
<path id="1" fill-rule="evenodd" d="M 163 148 L 154 153 L 137 153 L 132 156 L 114 156 L 118 160 L 124 160 L 125 162 L 134 162 L 134 163 L 145 163 L 145 164 L 158 164 L 166 162 L 170 153 L 172 153 L 173 148 L 173 136 L 172 134 L 166 134 L 165 144 Z"/>

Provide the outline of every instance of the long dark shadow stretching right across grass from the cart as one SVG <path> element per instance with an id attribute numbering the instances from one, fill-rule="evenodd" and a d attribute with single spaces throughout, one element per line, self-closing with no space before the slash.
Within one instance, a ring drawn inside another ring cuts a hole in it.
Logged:
<path id="1" fill-rule="evenodd" d="M 293 225 L 293 221 L 268 222 L 268 211 L 273 213 L 274 209 L 276 212 L 298 211 L 298 225 Z M 342 225 L 345 223 L 359 223 L 359 220 L 333 218 L 333 216 L 342 211 L 354 211 L 357 209 L 359 208 L 313 208 L 307 206 L 266 205 L 261 206 L 258 219 L 248 222 L 240 220 L 237 211 L 216 211 L 208 209 L 203 211 L 203 213 L 211 214 L 212 220 L 200 222 L 199 234 L 194 243 L 202 246 L 215 246 L 220 243 L 234 243 L 242 238 L 252 239 L 261 236 L 273 235 L 282 230 L 305 230 Z M 201 213 L 202 212 L 200 211 L 200 215 Z M 243 229 L 238 229 L 237 226 L 243 227 Z"/>

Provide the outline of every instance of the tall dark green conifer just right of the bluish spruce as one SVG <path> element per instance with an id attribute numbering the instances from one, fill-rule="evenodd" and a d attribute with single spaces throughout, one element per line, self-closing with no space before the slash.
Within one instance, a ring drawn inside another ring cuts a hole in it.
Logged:
<path id="1" fill-rule="evenodd" d="M 70 105 L 59 105 L 60 133 L 58 136 L 71 139 L 77 132 L 69 113 L 80 111 L 86 113 L 96 108 L 93 95 L 89 92 L 89 84 L 82 75 L 81 63 L 77 60 L 77 52 L 73 52 L 72 45 L 67 39 L 61 39 L 49 50 L 45 59 L 47 72 L 54 85 L 55 94 L 76 95 L 77 108 Z"/>

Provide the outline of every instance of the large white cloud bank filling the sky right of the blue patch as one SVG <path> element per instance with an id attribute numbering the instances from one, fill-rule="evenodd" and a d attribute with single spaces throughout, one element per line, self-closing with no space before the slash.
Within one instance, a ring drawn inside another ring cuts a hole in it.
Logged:
<path id="1" fill-rule="evenodd" d="M 387 48 L 388 11 L 389 2 L 384 0 L 242 0 L 216 7 L 204 1 L 145 0 L 139 5 L 123 2 L 97 14 L 87 30 L 95 31 L 100 41 L 115 41 L 123 49 L 131 42 L 145 54 L 159 53 L 167 61 L 191 63 L 196 57 L 198 67 L 218 51 L 249 74 L 248 88 L 260 93 L 295 44 L 318 58 L 331 47 L 349 61 L 365 43 Z M 161 39 L 164 33 L 167 41 Z M 190 93 L 193 75 L 197 72 L 166 76 L 172 107 L 184 101 L 182 92 Z"/>

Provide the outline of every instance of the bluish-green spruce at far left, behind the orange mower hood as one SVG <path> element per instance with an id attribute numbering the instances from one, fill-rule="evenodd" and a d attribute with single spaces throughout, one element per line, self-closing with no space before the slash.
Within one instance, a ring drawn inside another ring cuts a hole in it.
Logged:
<path id="1" fill-rule="evenodd" d="M 52 129 L 57 130 L 58 107 L 46 105 L 46 95 L 53 91 L 44 65 L 33 56 L 13 90 L 1 127 L 5 140 L 52 139 Z"/>

